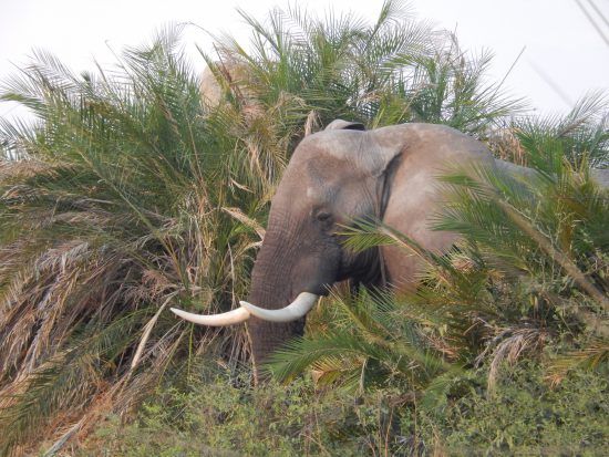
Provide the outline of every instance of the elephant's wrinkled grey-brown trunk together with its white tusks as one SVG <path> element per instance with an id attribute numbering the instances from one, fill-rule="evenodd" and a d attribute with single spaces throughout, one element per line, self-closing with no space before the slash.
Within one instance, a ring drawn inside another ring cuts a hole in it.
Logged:
<path id="1" fill-rule="evenodd" d="M 187 321 L 203 325 L 227 325 L 247 321 L 255 376 L 264 376 L 268 356 L 293 336 L 302 335 L 304 316 L 327 294 L 337 278 L 340 248 L 320 245 L 293 221 L 278 211 L 269 221 L 262 247 L 251 273 L 248 301 L 218 315 L 197 315 L 174 310 Z M 295 239 L 295 236 L 297 237 Z"/>

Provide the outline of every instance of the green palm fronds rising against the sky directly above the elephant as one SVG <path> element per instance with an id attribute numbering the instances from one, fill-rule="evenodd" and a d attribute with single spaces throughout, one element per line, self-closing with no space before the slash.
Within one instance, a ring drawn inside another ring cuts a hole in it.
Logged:
<path id="1" fill-rule="evenodd" d="M 385 1 L 374 24 L 353 14 L 320 19 L 298 8 L 275 9 L 266 22 L 241 15 L 254 31 L 252 48 L 231 37 L 218 40 L 221 61 L 242 69 L 228 77 L 216 72 L 220 86 L 245 104 L 251 102 L 245 94 L 266 106 L 295 97 L 301 106 L 287 125 L 302 125 L 314 110 L 321 125 L 337 117 L 371 126 L 426 121 L 483 134 L 519 106 L 498 86 L 482 84 L 488 55 L 466 55 L 453 37 L 415 20 L 400 1 Z"/>

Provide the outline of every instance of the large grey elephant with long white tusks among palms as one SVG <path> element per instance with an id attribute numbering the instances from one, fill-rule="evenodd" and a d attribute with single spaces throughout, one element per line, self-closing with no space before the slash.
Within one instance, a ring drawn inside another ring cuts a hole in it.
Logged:
<path id="1" fill-rule="evenodd" d="M 285 170 L 248 301 L 216 315 L 172 311 L 204 325 L 248 321 L 256 376 L 273 350 L 302 334 L 307 312 L 333 283 L 416 287 L 419 258 L 391 246 L 348 251 L 338 228 L 378 218 L 422 248 L 446 252 L 457 236 L 433 230 L 430 222 L 442 204 L 437 176 L 454 164 L 535 173 L 494 159 L 483 143 L 448 126 L 407 123 L 365 131 L 360 123 L 333 121 L 300 142 Z"/>

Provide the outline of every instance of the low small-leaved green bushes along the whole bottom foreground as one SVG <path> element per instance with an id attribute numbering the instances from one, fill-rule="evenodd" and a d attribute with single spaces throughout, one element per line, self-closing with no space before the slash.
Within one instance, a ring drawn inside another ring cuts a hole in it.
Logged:
<path id="1" fill-rule="evenodd" d="M 550 388 L 527 363 L 503 366 L 493 394 L 483 372 L 450 393 L 429 409 L 391 387 L 353 397 L 316 391 L 310 378 L 244 390 L 227 374 L 192 376 L 186 391 L 159 391 L 135 422 L 106 419 L 76 455 L 597 456 L 609 445 L 606 376 L 577 371 Z"/>

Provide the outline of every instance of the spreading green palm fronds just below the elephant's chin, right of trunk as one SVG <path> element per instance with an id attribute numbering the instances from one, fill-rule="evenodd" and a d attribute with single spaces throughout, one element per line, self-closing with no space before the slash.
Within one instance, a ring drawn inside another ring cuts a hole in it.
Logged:
<path id="1" fill-rule="evenodd" d="M 420 387 L 454 367 L 403 319 L 389 294 L 334 295 L 326 332 L 297 339 L 277 351 L 268 370 L 286 382 L 311 368 L 319 383 L 347 390 L 402 382 Z"/>

